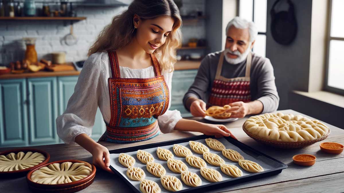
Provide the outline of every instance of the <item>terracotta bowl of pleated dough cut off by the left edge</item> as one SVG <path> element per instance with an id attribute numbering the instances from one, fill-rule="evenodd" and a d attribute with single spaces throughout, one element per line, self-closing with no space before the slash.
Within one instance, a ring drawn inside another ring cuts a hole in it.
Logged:
<path id="1" fill-rule="evenodd" d="M 47 163 L 50 160 L 50 154 L 46 151 L 40 150 L 40 149 L 34 149 L 34 148 L 18 148 L 18 149 L 11 149 L 11 150 L 6 150 L 6 151 L 1 151 L 0 155 L 6 156 L 7 154 L 10 153 L 19 153 L 20 151 L 26 153 L 29 151 L 32 152 L 39 152 L 45 156 L 45 160 L 42 163 L 39 163 L 38 165 L 31 167 L 31 168 L 26 168 L 23 170 L 16 170 L 16 171 L 8 171 L 8 172 L 0 172 L 0 177 L 1 178 L 18 178 L 18 177 L 23 177 L 28 173 L 30 170 L 33 170 L 35 168 L 38 168 L 42 166 L 43 164 Z"/>

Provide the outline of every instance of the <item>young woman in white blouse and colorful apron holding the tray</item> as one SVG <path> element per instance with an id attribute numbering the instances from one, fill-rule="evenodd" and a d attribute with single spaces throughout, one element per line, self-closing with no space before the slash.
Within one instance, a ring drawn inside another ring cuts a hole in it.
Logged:
<path id="1" fill-rule="evenodd" d="M 134 0 L 115 16 L 89 49 L 67 109 L 56 119 L 58 136 L 84 147 L 109 172 L 108 149 L 89 137 L 98 106 L 106 123 L 99 141 L 136 142 L 173 129 L 229 136 L 224 125 L 185 120 L 168 110 L 181 23 L 173 0 Z"/>

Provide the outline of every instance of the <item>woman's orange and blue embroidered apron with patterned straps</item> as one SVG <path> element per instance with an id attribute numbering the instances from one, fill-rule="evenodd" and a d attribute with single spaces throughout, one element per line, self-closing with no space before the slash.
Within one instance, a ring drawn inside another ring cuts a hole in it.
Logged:
<path id="1" fill-rule="evenodd" d="M 134 79 L 120 78 L 116 51 L 108 55 L 111 119 L 99 141 L 130 143 L 159 135 L 157 118 L 166 112 L 170 95 L 157 58 L 151 55 L 156 77 Z"/>

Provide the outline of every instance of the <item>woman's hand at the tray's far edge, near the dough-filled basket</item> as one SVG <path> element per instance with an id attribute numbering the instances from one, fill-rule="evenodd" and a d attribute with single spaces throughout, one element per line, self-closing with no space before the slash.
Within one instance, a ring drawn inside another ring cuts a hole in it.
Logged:
<path id="1" fill-rule="evenodd" d="M 230 136 L 234 139 L 237 139 L 230 130 L 224 125 L 214 125 L 205 123 L 204 126 L 200 127 L 199 132 L 205 135 L 213 135 L 216 138 L 223 136 Z"/>

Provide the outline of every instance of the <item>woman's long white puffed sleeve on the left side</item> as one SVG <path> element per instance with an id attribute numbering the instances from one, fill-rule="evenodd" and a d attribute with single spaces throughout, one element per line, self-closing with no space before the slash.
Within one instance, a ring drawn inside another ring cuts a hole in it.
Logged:
<path id="1" fill-rule="evenodd" d="M 92 134 L 100 92 L 101 55 L 92 54 L 85 61 L 65 112 L 56 118 L 57 135 L 66 144 L 75 144 L 79 134 Z"/>

